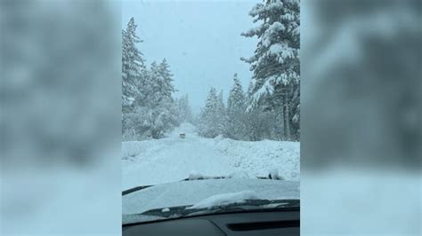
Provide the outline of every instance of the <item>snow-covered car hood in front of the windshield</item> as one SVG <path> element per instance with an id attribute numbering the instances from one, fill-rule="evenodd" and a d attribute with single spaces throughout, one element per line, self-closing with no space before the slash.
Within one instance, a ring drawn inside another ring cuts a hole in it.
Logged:
<path id="1" fill-rule="evenodd" d="M 299 199 L 299 182 L 256 178 L 180 181 L 154 185 L 122 196 L 122 214 L 194 205 L 214 195 L 253 191 L 258 199 Z"/>

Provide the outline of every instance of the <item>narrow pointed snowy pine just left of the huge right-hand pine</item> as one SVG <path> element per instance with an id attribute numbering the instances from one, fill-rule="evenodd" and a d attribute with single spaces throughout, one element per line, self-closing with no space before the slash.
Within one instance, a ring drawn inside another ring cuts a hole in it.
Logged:
<path id="1" fill-rule="evenodd" d="M 242 85 L 239 82 L 237 74 L 233 75 L 233 86 L 231 87 L 229 98 L 227 100 L 227 128 L 228 138 L 245 138 L 245 94 Z"/>

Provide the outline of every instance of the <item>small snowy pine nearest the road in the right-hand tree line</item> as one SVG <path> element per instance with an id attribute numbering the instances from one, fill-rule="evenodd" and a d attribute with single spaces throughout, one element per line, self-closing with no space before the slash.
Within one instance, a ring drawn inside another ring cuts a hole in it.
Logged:
<path id="1" fill-rule="evenodd" d="M 199 135 L 206 138 L 215 138 L 219 135 L 219 123 L 218 98 L 215 88 L 211 88 L 207 96 L 206 105 L 199 114 Z"/>

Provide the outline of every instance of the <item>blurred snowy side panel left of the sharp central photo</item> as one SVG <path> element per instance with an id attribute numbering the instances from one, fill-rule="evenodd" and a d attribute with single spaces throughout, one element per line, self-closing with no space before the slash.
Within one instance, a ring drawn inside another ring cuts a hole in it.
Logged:
<path id="1" fill-rule="evenodd" d="M 120 234 L 120 5 L 0 11 L 0 234 Z"/>

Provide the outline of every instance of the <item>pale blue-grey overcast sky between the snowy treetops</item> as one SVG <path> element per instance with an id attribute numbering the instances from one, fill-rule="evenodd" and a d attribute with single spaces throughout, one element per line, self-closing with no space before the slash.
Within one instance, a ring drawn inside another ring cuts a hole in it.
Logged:
<path id="1" fill-rule="evenodd" d="M 137 0 L 122 4 L 122 27 L 131 17 L 143 40 L 138 47 L 147 64 L 166 58 L 174 74 L 176 97 L 188 93 L 199 112 L 211 86 L 227 99 L 232 75 L 238 73 L 244 90 L 252 73 L 240 57 L 250 57 L 256 38 L 240 33 L 253 27 L 248 12 L 260 0 Z"/>

